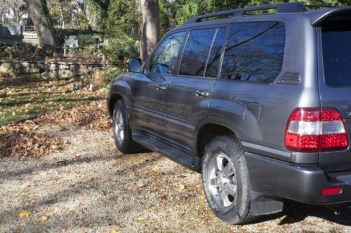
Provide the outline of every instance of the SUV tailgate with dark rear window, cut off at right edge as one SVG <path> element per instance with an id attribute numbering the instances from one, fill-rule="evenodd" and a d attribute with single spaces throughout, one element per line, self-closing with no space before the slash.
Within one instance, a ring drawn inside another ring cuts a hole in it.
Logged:
<path id="1" fill-rule="evenodd" d="M 349 145 L 351 138 L 351 13 L 324 22 L 320 33 L 319 91 L 322 107 L 335 107 L 343 116 Z M 347 19 L 348 18 L 348 19 Z M 345 151 L 319 154 L 325 171 L 351 169 L 350 146 Z"/>

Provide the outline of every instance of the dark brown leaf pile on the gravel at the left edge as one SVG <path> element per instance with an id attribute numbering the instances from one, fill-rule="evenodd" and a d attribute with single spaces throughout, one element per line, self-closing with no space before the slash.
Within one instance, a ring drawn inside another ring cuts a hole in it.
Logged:
<path id="1" fill-rule="evenodd" d="M 0 157 L 42 157 L 67 145 L 60 138 L 38 133 L 37 128 L 33 121 L 1 126 Z"/>

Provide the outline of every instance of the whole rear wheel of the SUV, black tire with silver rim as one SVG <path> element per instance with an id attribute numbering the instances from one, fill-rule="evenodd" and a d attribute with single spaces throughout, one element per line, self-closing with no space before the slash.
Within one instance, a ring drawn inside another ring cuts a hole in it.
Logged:
<path id="1" fill-rule="evenodd" d="M 219 136 L 207 145 L 202 184 L 208 205 L 221 220 L 239 225 L 255 219 L 244 152 L 234 137 Z"/>

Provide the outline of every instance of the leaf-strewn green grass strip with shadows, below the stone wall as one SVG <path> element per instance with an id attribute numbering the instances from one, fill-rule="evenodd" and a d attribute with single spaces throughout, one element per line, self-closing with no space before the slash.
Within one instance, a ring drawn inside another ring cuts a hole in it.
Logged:
<path id="1" fill-rule="evenodd" d="M 64 81 L 0 78 L 0 124 L 105 98 L 107 90 L 73 91 Z"/>

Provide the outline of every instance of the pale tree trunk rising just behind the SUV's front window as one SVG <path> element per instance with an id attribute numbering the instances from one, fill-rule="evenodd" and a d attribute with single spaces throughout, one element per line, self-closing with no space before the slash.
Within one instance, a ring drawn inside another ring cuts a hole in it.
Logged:
<path id="1" fill-rule="evenodd" d="M 145 63 L 159 40 L 159 1 L 141 0 L 141 12 L 143 29 L 140 38 L 140 55 Z"/>

